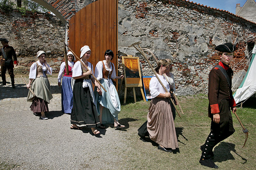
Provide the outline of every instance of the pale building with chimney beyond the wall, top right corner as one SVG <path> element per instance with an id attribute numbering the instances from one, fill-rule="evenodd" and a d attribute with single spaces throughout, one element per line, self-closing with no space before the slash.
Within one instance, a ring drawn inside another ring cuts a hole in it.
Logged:
<path id="1" fill-rule="evenodd" d="M 242 7 L 240 7 L 240 3 L 237 3 L 236 15 L 256 22 L 256 2 L 254 0 L 247 0 Z"/>

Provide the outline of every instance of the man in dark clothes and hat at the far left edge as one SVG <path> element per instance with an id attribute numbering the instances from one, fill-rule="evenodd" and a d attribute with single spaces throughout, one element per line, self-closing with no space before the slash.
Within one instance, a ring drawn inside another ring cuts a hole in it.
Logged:
<path id="1" fill-rule="evenodd" d="M 17 56 L 15 53 L 15 50 L 13 49 L 13 47 L 8 45 L 8 40 L 6 38 L 0 38 L 1 44 L 3 45 L 3 47 L 0 50 L 0 56 L 2 55 L 2 60 L 1 60 L 1 77 L 2 77 L 2 84 L 0 84 L 0 86 L 5 86 L 6 85 L 6 79 L 5 79 L 5 73 L 6 70 L 8 70 L 8 73 L 11 77 L 11 82 L 12 82 L 12 87 L 15 88 L 14 85 L 14 74 L 13 74 L 13 60 L 12 57 L 14 59 L 14 64 L 17 66 Z"/>

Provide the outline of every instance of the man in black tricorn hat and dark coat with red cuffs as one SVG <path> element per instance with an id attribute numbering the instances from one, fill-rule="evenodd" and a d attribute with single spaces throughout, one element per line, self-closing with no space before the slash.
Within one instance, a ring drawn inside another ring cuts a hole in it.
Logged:
<path id="1" fill-rule="evenodd" d="M 215 47 L 215 50 L 219 51 L 218 56 L 221 61 L 213 67 L 209 74 L 208 116 L 212 119 L 211 132 L 204 145 L 200 147 L 202 155 L 199 163 L 217 169 L 218 166 L 212 160 L 213 147 L 235 131 L 230 108 L 233 113 L 237 111 L 237 108 L 231 90 L 233 71 L 228 65 L 232 61 L 236 45 L 225 43 Z"/>

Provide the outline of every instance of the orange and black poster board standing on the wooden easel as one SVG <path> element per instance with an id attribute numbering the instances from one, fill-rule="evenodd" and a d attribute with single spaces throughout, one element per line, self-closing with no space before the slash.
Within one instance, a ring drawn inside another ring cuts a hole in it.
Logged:
<path id="1" fill-rule="evenodd" d="M 139 57 L 122 56 L 125 87 L 142 87 Z"/>

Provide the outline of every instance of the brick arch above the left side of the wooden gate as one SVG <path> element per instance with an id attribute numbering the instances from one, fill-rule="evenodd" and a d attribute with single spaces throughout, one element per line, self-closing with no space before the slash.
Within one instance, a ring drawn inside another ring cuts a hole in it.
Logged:
<path id="1" fill-rule="evenodd" d="M 78 12 L 76 0 L 33 0 L 53 12 L 67 26 L 67 21 Z"/>

